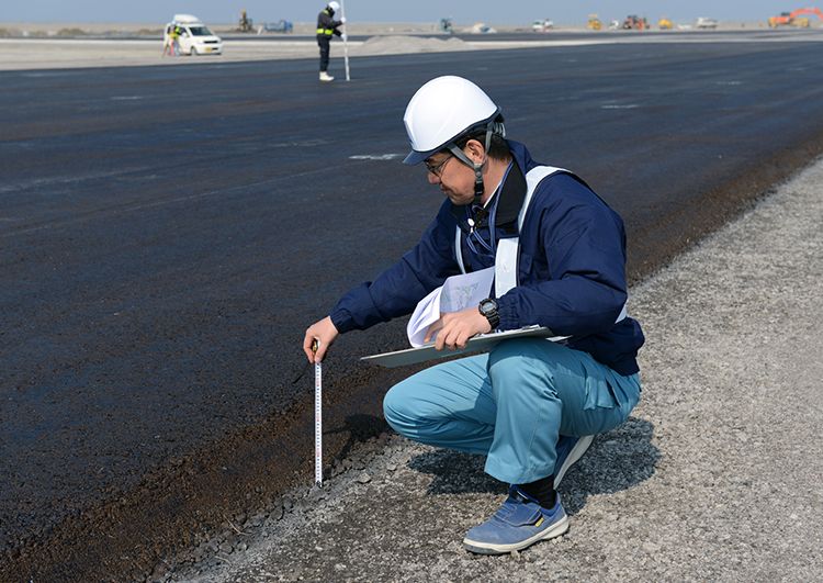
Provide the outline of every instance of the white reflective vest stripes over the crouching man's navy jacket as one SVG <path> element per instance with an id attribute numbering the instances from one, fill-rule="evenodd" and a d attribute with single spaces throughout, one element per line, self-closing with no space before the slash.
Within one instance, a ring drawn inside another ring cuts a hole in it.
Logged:
<path id="1" fill-rule="evenodd" d="M 552 176 L 555 172 L 572 173 L 563 168 L 555 168 L 553 166 L 537 166 L 526 172 L 526 197 L 523 198 L 523 204 L 520 206 L 520 214 L 517 216 L 517 237 L 508 237 L 499 239 L 497 242 L 497 253 L 495 255 L 495 298 L 500 298 L 507 291 L 516 288 L 518 284 L 518 258 L 520 257 L 520 237 L 519 233 L 523 228 L 526 221 L 526 213 L 529 211 L 529 204 L 531 198 L 534 194 L 534 190 L 538 184 L 544 179 Z M 454 235 L 454 255 L 460 266 L 460 271 L 465 273 L 465 265 L 463 264 L 463 253 L 460 246 L 461 231 L 460 226 L 456 228 Z M 620 314 L 618 315 L 615 324 L 622 321 L 627 316 L 625 304 L 623 304 Z"/>

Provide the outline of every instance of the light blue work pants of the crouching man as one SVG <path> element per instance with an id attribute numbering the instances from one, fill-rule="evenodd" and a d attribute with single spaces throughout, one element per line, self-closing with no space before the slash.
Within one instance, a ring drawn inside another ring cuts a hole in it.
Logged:
<path id="1" fill-rule="evenodd" d="M 640 374 L 623 377 L 587 352 L 525 338 L 409 377 L 386 393 L 383 411 L 401 435 L 484 453 L 486 473 L 523 484 L 554 473 L 559 435 L 608 431 L 639 399 Z"/>

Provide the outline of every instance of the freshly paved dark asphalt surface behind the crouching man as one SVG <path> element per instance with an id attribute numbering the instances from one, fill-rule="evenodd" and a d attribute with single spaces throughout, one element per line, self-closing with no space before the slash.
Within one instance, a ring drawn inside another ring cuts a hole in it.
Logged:
<path id="1" fill-rule="evenodd" d="M 303 329 L 441 202 L 398 159 L 426 80 L 474 79 L 583 176 L 638 281 L 823 150 L 819 47 L 369 57 L 330 86 L 314 60 L 0 74 L 0 580 L 140 572 L 308 475 Z M 335 346 L 328 458 L 383 428 L 396 377 L 357 357 L 403 341 Z"/>

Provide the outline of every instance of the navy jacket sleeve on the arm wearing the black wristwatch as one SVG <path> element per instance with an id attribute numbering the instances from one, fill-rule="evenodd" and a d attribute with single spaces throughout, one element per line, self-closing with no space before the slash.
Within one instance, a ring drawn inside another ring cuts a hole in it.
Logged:
<path id="1" fill-rule="evenodd" d="M 535 244 L 521 247 L 525 283 L 498 299 L 500 329 L 539 324 L 574 336 L 611 329 L 628 295 L 620 217 L 568 175 L 538 187 L 529 215 Z"/>

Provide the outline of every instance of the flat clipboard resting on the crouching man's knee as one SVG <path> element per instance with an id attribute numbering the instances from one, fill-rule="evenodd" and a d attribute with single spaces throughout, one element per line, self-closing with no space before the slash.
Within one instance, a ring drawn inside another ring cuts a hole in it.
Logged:
<path id="1" fill-rule="evenodd" d="M 360 360 L 362 360 L 363 362 L 371 362 L 373 365 L 380 365 L 381 367 L 393 369 L 396 367 L 417 365 L 418 362 L 425 362 L 427 360 L 449 358 L 462 354 L 486 352 L 491 350 L 492 347 L 497 343 L 510 338 L 545 338 L 546 340 L 559 343 L 565 340 L 566 338 L 568 338 L 568 336 L 556 336 L 550 328 L 535 325 L 514 330 L 478 334 L 477 336 L 469 339 L 465 348 L 458 348 L 456 350 L 449 350 L 448 348 L 436 350 L 433 343 L 431 343 L 425 346 L 420 346 L 419 348 L 406 348 L 404 350 L 395 350 L 393 352 L 382 352 L 380 355 L 361 357 Z"/>

